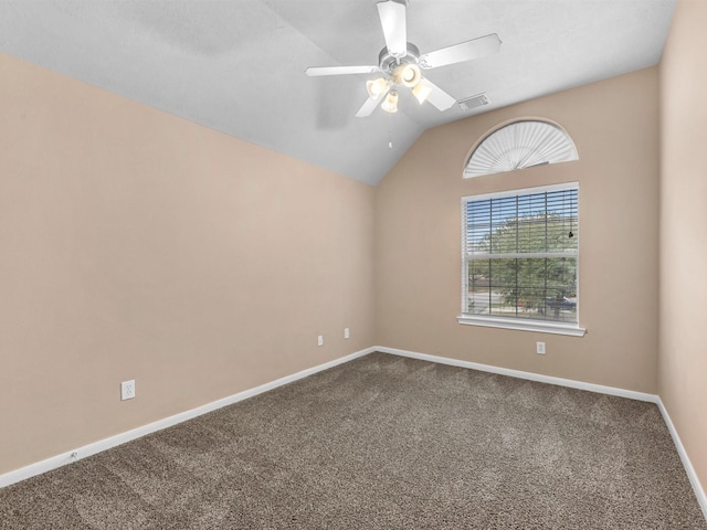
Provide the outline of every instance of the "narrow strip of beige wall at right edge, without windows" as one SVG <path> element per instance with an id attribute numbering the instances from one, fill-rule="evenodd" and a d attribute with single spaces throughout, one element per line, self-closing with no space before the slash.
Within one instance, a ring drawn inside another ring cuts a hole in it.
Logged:
<path id="1" fill-rule="evenodd" d="M 707 2 L 677 4 L 661 63 L 659 394 L 707 489 Z"/>

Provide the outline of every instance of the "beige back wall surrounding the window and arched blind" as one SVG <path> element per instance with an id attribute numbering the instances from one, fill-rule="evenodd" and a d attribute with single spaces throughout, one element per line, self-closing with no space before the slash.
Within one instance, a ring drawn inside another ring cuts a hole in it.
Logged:
<path id="1" fill-rule="evenodd" d="M 377 343 L 655 393 L 657 104 L 652 67 L 428 130 L 377 189 Z M 580 160 L 463 180 L 472 145 L 526 116 L 564 127 Z M 461 198 L 571 181 L 580 183 L 580 324 L 588 333 L 458 325 Z M 546 341 L 546 356 L 535 353 L 536 340 Z"/>

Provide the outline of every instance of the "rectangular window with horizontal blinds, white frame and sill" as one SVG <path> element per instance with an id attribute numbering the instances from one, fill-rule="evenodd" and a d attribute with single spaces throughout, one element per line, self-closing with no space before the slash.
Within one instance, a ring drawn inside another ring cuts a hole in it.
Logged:
<path id="1" fill-rule="evenodd" d="M 583 335 L 578 214 L 577 183 L 464 198 L 458 321 Z"/>

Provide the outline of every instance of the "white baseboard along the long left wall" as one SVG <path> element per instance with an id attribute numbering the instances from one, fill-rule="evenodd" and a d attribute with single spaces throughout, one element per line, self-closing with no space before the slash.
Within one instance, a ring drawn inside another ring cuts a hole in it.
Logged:
<path id="1" fill-rule="evenodd" d="M 52 469 L 56 469 L 57 467 L 65 466 L 66 464 L 71 464 L 77 459 L 85 458 L 87 456 L 95 455 L 96 453 L 101 453 L 103 451 L 109 449 L 117 445 L 125 444 L 126 442 L 137 439 L 147 434 L 155 433 L 157 431 L 161 431 L 167 427 L 171 427 L 172 425 L 177 425 L 178 423 L 186 422 L 187 420 L 201 416 L 202 414 L 207 414 L 208 412 L 212 412 L 223 406 L 238 403 L 239 401 L 253 398 L 254 395 L 262 394 L 263 392 L 267 392 L 268 390 L 276 389 L 277 386 L 282 386 L 283 384 L 292 383 L 294 381 L 306 378 L 308 375 L 320 372 L 323 370 L 327 370 L 338 364 L 352 361 L 354 359 L 358 359 L 359 357 L 367 356 L 368 353 L 372 353 L 373 351 L 376 351 L 374 348 L 367 348 L 365 350 L 357 351 L 349 356 L 345 356 L 339 359 L 325 362 L 324 364 L 319 364 L 314 368 L 302 370 L 300 372 L 293 373 L 292 375 L 286 375 L 276 381 L 261 384 L 260 386 L 255 386 L 254 389 L 244 390 L 243 392 L 239 392 L 238 394 L 223 398 L 222 400 L 208 403 L 197 409 L 191 409 L 190 411 L 175 414 L 173 416 L 159 420 L 148 425 L 144 425 L 141 427 L 137 427 L 131 431 L 127 431 L 125 433 L 120 433 L 115 436 L 110 436 L 108 438 L 104 438 L 88 445 L 84 445 L 83 447 L 78 447 L 76 449 L 68 451 L 66 453 L 62 453 L 56 456 L 52 456 L 51 458 L 46 458 L 35 464 L 30 464 L 29 466 L 21 467 L 20 469 L 6 473 L 4 475 L 0 475 L 0 488 L 4 488 L 6 486 L 10 486 L 11 484 L 19 483 L 20 480 L 24 480 L 35 475 L 41 475 L 42 473 L 51 471 Z"/>

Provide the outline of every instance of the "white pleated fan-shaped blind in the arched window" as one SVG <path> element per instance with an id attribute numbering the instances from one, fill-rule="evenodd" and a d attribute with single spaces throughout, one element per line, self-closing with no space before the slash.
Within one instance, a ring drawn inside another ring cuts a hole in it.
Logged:
<path id="1" fill-rule="evenodd" d="M 561 127 L 538 119 L 524 119 L 487 135 L 472 152 L 464 168 L 464 178 L 578 158 L 574 142 Z"/>

